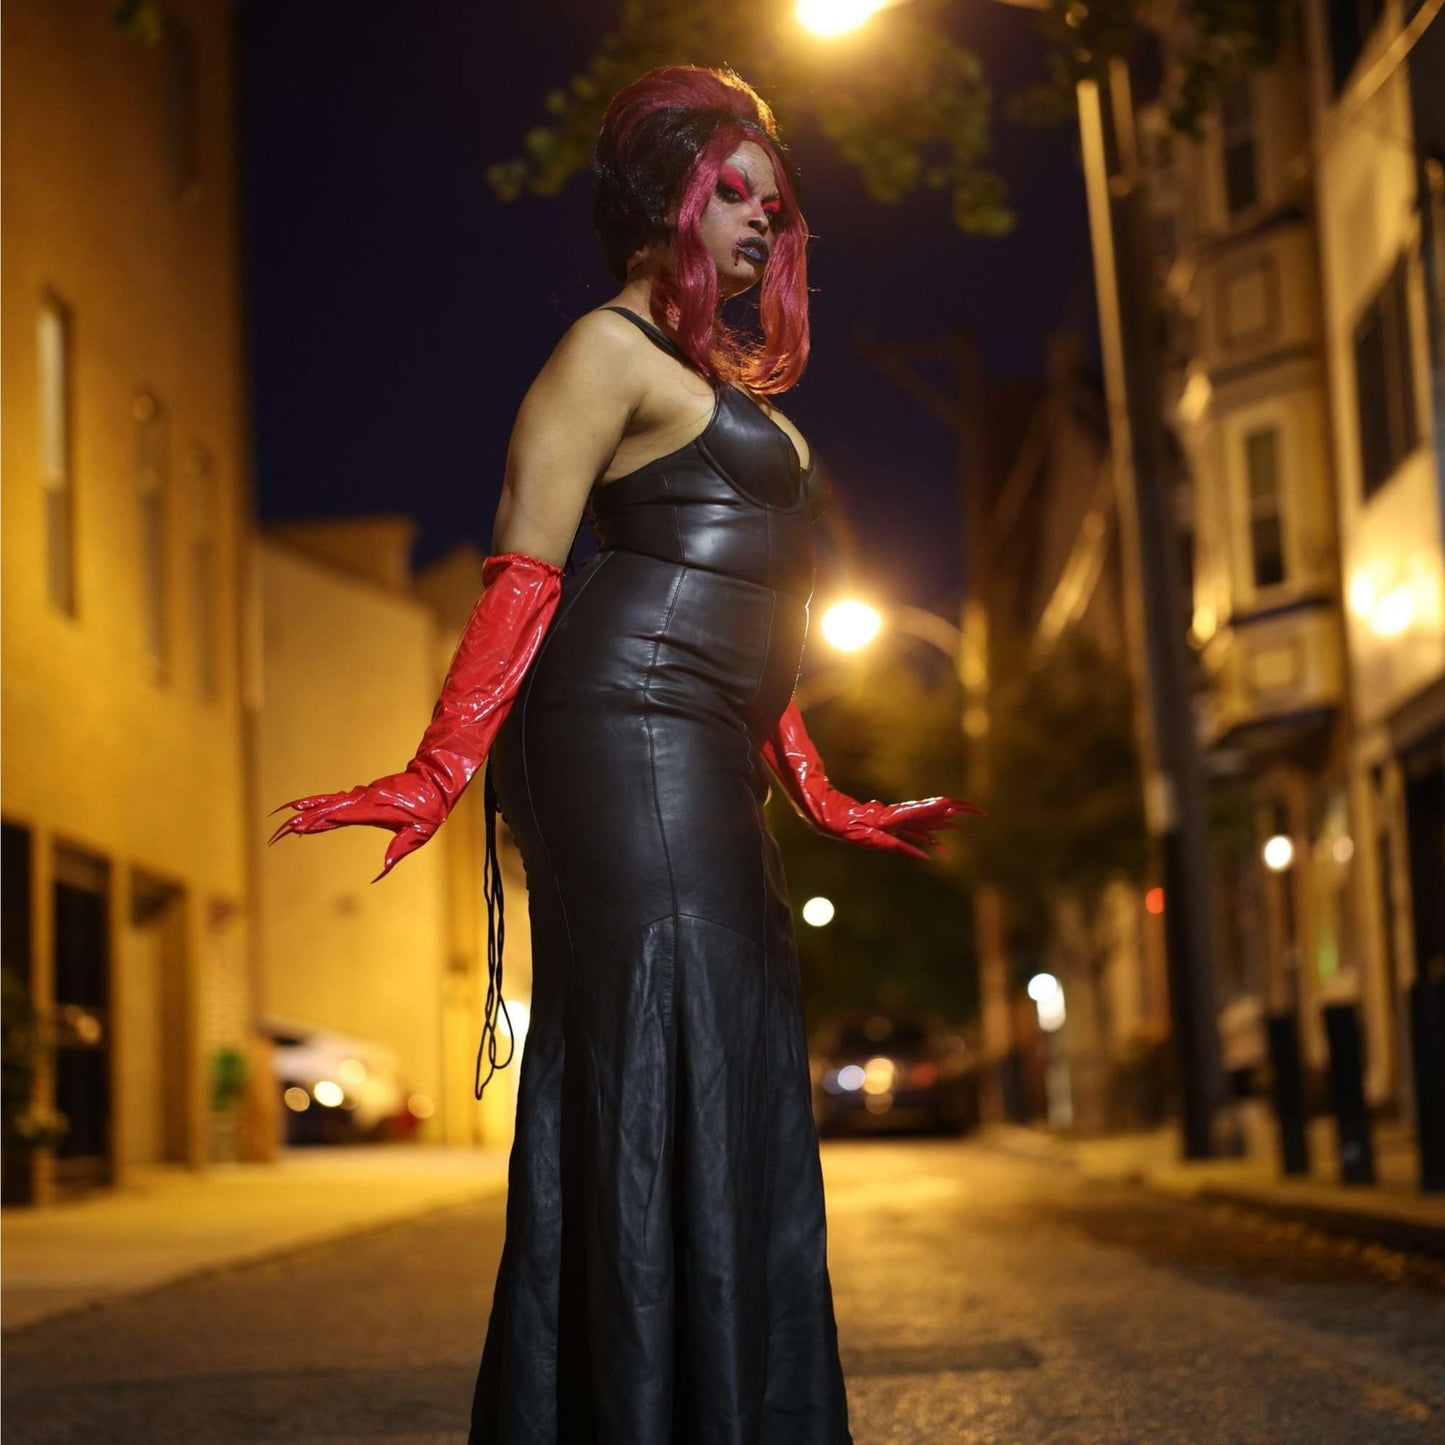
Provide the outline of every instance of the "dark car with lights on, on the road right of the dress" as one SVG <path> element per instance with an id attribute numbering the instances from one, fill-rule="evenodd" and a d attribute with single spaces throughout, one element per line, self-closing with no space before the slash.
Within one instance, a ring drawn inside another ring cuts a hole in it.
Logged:
<path id="1" fill-rule="evenodd" d="M 922 1010 L 834 1014 L 809 1051 L 819 1133 L 962 1133 L 978 1120 L 964 1040 Z"/>

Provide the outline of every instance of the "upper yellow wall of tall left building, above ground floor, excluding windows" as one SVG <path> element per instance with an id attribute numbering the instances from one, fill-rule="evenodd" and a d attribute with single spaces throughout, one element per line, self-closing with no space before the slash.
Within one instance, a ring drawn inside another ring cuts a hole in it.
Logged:
<path id="1" fill-rule="evenodd" d="M 241 344 L 224 4 L 194 13 L 201 184 L 169 191 L 160 58 L 84 0 L 4 7 L 6 812 L 236 896 L 243 880 L 234 639 Z M 36 394 L 46 289 L 74 314 L 78 616 L 46 603 Z M 142 627 L 133 400 L 171 416 L 171 660 Z M 220 695 L 201 696 L 188 458 L 214 457 Z"/>

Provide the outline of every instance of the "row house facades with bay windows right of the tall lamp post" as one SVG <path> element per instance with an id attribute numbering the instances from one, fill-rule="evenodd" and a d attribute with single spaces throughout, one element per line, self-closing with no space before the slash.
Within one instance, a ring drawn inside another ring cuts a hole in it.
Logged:
<path id="1" fill-rule="evenodd" d="M 1142 117 L 1163 405 L 1189 480 L 1224 1061 L 1261 1064 L 1264 1019 L 1292 1013 L 1318 1077 L 1324 1007 L 1353 1003 L 1376 1104 L 1407 1104 L 1406 991 L 1445 893 L 1420 223 L 1438 136 L 1413 129 L 1426 56 L 1399 53 L 1407 10 L 1308 0 L 1199 142 Z"/>

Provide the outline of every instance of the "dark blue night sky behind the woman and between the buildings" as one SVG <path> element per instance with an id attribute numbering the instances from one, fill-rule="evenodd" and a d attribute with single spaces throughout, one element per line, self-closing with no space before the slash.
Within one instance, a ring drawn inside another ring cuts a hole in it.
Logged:
<path id="1" fill-rule="evenodd" d="M 510 205 L 484 178 L 620 0 L 595 0 L 582 20 L 579 9 L 241 6 L 263 519 L 405 512 L 422 523 L 418 565 L 462 539 L 488 548 L 517 403 L 566 325 L 616 290 L 585 173 L 559 198 Z M 952 435 L 853 338 L 971 327 L 984 374 L 1003 377 L 1038 373 L 1065 321 L 1092 324 L 1075 131 L 1003 117 L 1003 95 L 1043 74 L 1035 17 L 991 0 L 957 0 L 954 16 L 994 82 L 994 160 L 1019 224 L 977 238 L 954 230 L 942 197 L 879 205 L 824 142 L 788 134 L 815 233 L 814 353 L 779 399 L 832 477 L 827 532 L 854 539 L 857 581 L 948 613 L 959 590 Z M 824 542 L 819 595 L 838 555 Z"/>

